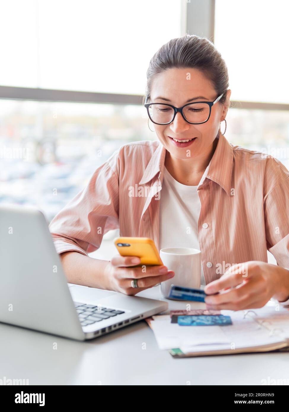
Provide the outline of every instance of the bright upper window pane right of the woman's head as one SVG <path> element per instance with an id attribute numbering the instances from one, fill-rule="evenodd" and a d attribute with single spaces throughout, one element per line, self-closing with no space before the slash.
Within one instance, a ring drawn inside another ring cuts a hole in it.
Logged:
<path id="1" fill-rule="evenodd" d="M 231 99 L 289 103 L 284 0 L 216 0 L 214 44 L 226 61 Z"/>

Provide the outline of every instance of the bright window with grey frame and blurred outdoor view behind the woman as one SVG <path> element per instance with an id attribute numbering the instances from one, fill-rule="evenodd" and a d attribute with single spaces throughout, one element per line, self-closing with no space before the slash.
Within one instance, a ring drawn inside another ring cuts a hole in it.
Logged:
<path id="1" fill-rule="evenodd" d="M 289 169 L 288 2 L 0 4 L 0 203 L 35 205 L 50 222 L 121 145 L 156 140 L 141 104 L 146 70 L 185 33 L 213 41 L 228 66 L 227 140 Z"/>

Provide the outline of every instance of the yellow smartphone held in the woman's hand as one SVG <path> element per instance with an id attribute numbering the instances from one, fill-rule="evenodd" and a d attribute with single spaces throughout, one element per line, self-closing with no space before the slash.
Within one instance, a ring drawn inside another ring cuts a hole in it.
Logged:
<path id="1" fill-rule="evenodd" d="M 163 265 L 155 242 L 149 237 L 116 237 L 113 243 L 121 256 L 137 256 L 141 265 Z"/>

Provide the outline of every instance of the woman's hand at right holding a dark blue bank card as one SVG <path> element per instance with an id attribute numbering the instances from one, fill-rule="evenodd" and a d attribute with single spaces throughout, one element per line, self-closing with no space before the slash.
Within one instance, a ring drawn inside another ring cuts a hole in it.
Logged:
<path id="1" fill-rule="evenodd" d="M 233 289 L 231 289 L 233 288 Z M 205 286 L 207 309 L 254 309 L 263 307 L 271 297 L 280 302 L 289 298 L 289 270 L 258 260 L 231 266 Z"/>

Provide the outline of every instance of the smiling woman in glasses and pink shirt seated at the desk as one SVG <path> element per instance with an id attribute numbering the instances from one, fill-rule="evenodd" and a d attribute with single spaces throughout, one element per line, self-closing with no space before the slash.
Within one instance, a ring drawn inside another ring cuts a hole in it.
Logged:
<path id="1" fill-rule="evenodd" d="M 158 140 L 116 150 L 49 226 L 68 281 L 134 295 L 174 276 L 157 266 L 143 273 L 138 258 L 88 257 L 120 228 L 159 250 L 200 248 L 206 293 L 222 290 L 206 297 L 208 308 L 258 308 L 271 297 L 289 304 L 289 172 L 221 133 L 231 90 L 220 53 L 195 35 L 170 40 L 147 80 Z M 267 263 L 267 249 L 278 266 Z"/>

